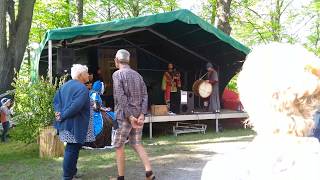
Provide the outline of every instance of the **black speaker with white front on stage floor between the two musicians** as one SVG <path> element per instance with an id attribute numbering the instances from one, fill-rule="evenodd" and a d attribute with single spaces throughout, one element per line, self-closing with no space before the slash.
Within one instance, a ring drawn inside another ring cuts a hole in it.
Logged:
<path id="1" fill-rule="evenodd" d="M 194 111 L 194 93 L 192 91 L 171 93 L 170 110 L 176 114 L 192 114 Z"/>

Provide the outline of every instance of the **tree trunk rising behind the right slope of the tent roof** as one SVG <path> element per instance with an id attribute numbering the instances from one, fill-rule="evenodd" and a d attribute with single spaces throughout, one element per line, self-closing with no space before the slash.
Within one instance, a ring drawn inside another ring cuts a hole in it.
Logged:
<path id="1" fill-rule="evenodd" d="M 217 16 L 215 21 L 215 26 L 228 35 L 231 33 L 229 23 L 231 1 L 232 0 L 217 0 Z"/>

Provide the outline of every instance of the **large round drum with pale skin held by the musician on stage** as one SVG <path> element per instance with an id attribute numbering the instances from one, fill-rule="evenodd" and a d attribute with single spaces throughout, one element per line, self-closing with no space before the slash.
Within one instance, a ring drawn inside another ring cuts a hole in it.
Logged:
<path id="1" fill-rule="evenodd" d="M 206 80 L 196 80 L 192 85 L 192 91 L 194 92 L 194 94 L 202 98 L 209 97 L 212 93 L 212 90 L 212 85 L 206 82 Z"/>

